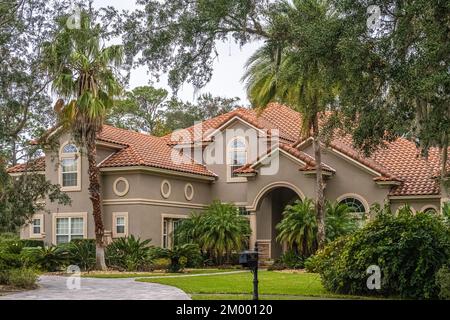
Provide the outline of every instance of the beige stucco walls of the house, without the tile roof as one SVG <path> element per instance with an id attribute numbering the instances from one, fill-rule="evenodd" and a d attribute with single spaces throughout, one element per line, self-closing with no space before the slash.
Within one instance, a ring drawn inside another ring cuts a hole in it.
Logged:
<path id="1" fill-rule="evenodd" d="M 246 132 L 252 127 L 245 121 L 234 121 L 229 128 Z M 236 131 L 235 131 L 236 132 Z M 243 134 L 245 136 L 245 134 Z M 217 136 L 222 136 L 223 143 L 218 143 Z M 227 146 L 233 139 L 225 131 L 217 132 L 215 142 L 206 147 L 204 152 L 217 148 L 227 154 Z M 252 140 L 245 137 L 247 143 Z M 69 137 L 63 135 L 63 145 Z M 258 142 L 259 143 L 259 142 Z M 264 140 L 262 143 L 266 143 Z M 98 146 L 98 162 L 105 160 L 116 150 L 114 146 Z M 258 158 L 253 149 L 248 151 L 247 162 Z M 304 150 L 313 156 L 311 146 Z M 45 175 L 52 183 L 60 183 L 59 155 L 46 153 Z M 355 197 L 368 211 L 374 203 L 390 202 L 395 212 L 400 206 L 408 203 L 416 211 L 428 207 L 440 208 L 441 197 L 389 198 L 389 188 L 381 187 L 374 182 L 375 174 L 363 165 L 343 157 L 326 147 L 323 148 L 323 162 L 332 167 L 335 173 L 326 178 L 325 197 L 328 200 L 342 200 L 344 197 Z M 91 202 L 88 194 L 87 161 L 80 154 L 80 190 L 68 191 L 72 199 L 70 206 L 62 206 L 47 201 L 49 213 L 43 213 L 41 238 L 46 243 L 55 242 L 55 221 L 57 217 L 84 217 L 84 237 L 94 238 L 94 221 Z M 299 170 L 300 160 L 284 151 L 278 152 L 278 170 L 275 174 L 264 175 L 257 167 L 255 177 L 230 178 L 230 169 L 226 163 L 206 164 L 214 172 L 215 180 L 204 179 L 196 175 L 183 175 L 179 172 L 158 171 L 148 167 L 124 167 L 101 169 L 101 194 L 103 202 L 103 220 L 106 233 L 114 237 L 117 232 L 117 217 L 123 217 L 124 234 L 133 234 L 143 239 L 152 239 L 152 244 L 163 244 L 164 219 L 180 219 L 189 216 L 193 211 L 201 211 L 213 200 L 235 203 L 245 207 L 249 213 L 253 230 L 251 245 L 261 245 L 266 254 L 272 258 L 278 256 L 282 247 L 276 242 L 275 226 L 281 220 L 281 212 L 285 204 L 295 199 L 315 197 L 315 176 Z M 30 226 L 21 231 L 23 238 L 30 237 Z M 123 235 L 123 234 L 122 234 Z M 35 235 L 33 235 L 35 237 Z"/>

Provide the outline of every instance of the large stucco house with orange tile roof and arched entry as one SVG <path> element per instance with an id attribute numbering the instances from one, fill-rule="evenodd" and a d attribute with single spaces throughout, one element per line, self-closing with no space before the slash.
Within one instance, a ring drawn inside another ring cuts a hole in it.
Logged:
<path id="1" fill-rule="evenodd" d="M 315 196 L 310 139 L 300 140 L 300 115 L 269 105 L 261 114 L 237 109 L 165 137 L 105 126 L 97 140 L 106 240 L 133 234 L 154 245 L 171 246 L 180 219 L 213 200 L 232 202 L 247 215 L 263 255 L 277 257 L 276 224 L 284 206 Z M 60 184 L 70 206 L 48 203 L 21 231 L 46 243 L 94 238 L 86 157 L 67 135 L 59 153 L 46 152 L 33 170 Z M 213 159 L 213 161 L 211 161 Z M 415 211 L 439 212 L 448 200 L 436 178 L 437 150 L 427 159 L 413 142 L 398 139 L 370 157 L 337 134 L 323 146 L 325 197 L 344 201 L 357 213 L 388 202 L 393 211 L 406 203 Z M 25 165 L 9 169 L 21 174 Z"/>

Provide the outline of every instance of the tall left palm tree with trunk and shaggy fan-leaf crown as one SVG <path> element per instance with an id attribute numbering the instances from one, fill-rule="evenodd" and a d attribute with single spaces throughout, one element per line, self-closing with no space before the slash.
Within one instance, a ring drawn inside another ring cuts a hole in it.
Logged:
<path id="1" fill-rule="evenodd" d="M 63 107 L 55 108 L 60 125 L 87 155 L 96 267 L 106 270 L 95 142 L 113 98 L 121 92 L 116 70 L 122 63 L 123 50 L 121 46 L 104 47 L 101 27 L 93 25 L 86 13 L 82 13 L 78 29 L 68 28 L 66 21 L 67 17 L 59 19 L 59 29 L 52 41 L 44 44 L 45 68 L 53 79 L 53 91 L 66 101 L 60 99 L 56 106 Z"/>

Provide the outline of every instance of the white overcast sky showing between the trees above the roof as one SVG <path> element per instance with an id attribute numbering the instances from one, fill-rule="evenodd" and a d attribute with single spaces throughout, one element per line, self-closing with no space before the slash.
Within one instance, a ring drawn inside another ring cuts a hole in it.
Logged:
<path id="1" fill-rule="evenodd" d="M 134 0 L 94 0 L 97 7 L 114 6 L 117 9 L 133 10 L 136 8 Z M 214 73 L 211 81 L 200 90 L 198 94 L 210 92 L 214 96 L 222 97 L 239 97 L 241 103 L 247 105 L 248 100 L 244 90 L 244 86 L 240 81 L 244 73 L 244 64 L 253 52 L 260 46 L 260 43 L 247 44 L 240 48 L 234 42 L 218 43 L 217 51 L 218 59 L 214 62 Z M 133 70 L 130 79 L 130 88 L 146 85 L 149 83 L 150 77 L 147 74 L 147 67 L 143 66 Z M 167 85 L 167 78 L 161 77 L 159 83 L 154 83 L 155 87 L 166 88 L 170 92 Z M 195 101 L 194 88 L 190 84 L 184 84 L 178 92 L 178 97 L 185 101 Z"/>

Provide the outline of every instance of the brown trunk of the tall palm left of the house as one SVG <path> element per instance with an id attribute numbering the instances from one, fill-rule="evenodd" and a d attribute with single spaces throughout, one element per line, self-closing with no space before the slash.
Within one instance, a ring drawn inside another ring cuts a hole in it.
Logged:
<path id="1" fill-rule="evenodd" d="M 105 244 L 103 235 L 105 233 L 103 227 L 102 204 L 100 199 L 100 171 L 97 167 L 97 148 L 95 140 L 87 143 L 87 158 L 89 163 L 89 197 L 92 202 L 92 214 L 95 224 L 95 240 L 96 240 L 96 269 L 106 270 L 105 263 Z"/>

